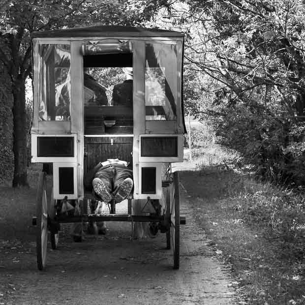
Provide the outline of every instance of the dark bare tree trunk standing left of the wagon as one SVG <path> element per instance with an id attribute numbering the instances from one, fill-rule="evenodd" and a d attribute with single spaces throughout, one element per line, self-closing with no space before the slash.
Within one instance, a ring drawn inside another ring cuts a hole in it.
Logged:
<path id="1" fill-rule="evenodd" d="M 27 179 L 27 126 L 25 80 L 18 75 L 13 85 L 13 187 L 28 186 Z"/>

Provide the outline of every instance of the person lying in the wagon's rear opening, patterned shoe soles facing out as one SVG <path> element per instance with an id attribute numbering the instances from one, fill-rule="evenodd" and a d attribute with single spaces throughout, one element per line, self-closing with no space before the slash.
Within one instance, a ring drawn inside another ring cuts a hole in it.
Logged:
<path id="1" fill-rule="evenodd" d="M 133 188 L 132 170 L 126 161 L 108 159 L 98 163 L 93 169 L 92 187 L 102 201 L 116 203 L 126 199 Z"/>

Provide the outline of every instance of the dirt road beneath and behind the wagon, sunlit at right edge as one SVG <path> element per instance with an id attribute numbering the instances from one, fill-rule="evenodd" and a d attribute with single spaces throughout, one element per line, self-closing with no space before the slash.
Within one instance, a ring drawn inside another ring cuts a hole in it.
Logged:
<path id="1" fill-rule="evenodd" d="M 61 237 L 58 250 L 48 245 L 43 272 L 36 267 L 34 240 L 0 241 L 0 305 L 238 304 L 234 279 L 205 245 L 183 187 L 181 195 L 186 225 L 181 228 L 180 270 L 172 268 L 165 234 L 130 240 L 130 223 L 108 223 L 107 235 L 97 240 L 87 236 L 74 243 L 68 235 Z"/>

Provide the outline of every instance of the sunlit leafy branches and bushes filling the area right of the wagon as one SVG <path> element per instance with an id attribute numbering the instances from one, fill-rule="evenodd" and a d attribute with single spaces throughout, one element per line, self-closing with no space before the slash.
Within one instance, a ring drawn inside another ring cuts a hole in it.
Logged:
<path id="1" fill-rule="evenodd" d="M 298 0 L 184 0 L 156 20 L 185 33 L 187 111 L 258 176 L 291 185 L 305 183 L 304 12 Z"/>

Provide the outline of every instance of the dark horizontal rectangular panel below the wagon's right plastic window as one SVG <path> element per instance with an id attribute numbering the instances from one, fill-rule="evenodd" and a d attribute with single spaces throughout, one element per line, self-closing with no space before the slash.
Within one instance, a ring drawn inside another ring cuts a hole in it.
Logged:
<path id="1" fill-rule="evenodd" d="M 177 157 L 178 137 L 142 137 L 142 157 Z"/>

